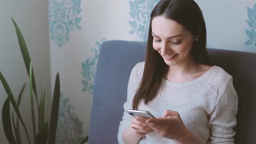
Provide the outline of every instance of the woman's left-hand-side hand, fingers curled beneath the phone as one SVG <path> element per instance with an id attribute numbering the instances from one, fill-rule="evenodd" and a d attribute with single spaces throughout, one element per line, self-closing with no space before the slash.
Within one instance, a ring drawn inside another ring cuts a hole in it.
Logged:
<path id="1" fill-rule="evenodd" d="M 144 118 L 144 120 L 148 120 L 148 118 Z M 152 128 L 150 128 L 147 124 L 143 124 L 143 122 L 138 121 L 135 118 L 131 119 L 131 128 L 133 128 L 135 133 L 139 134 L 140 136 L 144 136 L 150 132 L 154 132 L 154 130 L 152 130 Z"/>

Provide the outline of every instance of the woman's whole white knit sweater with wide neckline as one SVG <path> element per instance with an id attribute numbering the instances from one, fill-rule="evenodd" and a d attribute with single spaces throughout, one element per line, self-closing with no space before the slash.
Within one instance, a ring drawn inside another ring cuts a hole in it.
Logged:
<path id="1" fill-rule="evenodd" d="M 132 117 L 126 110 L 132 109 L 132 99 L 141 81 L 143 69 L 144 62 L 140 62 L 131 71 L 125 111 L 118 130 L 119 144 L 124 144 L 122 133 L 131 125 Z M 233 144 L 238 104 L 232 76 L 215 65 L 190 82 L 165 81 L 158 96 L 148 105 L 142 102 L 138 110 L 150 111 L 155 117 L 161 117 L 166 109 L 177 111 L 185 126 L 203 142 Z M 178 144 L 156 132 L 141 137 L 139 143 Z"/>

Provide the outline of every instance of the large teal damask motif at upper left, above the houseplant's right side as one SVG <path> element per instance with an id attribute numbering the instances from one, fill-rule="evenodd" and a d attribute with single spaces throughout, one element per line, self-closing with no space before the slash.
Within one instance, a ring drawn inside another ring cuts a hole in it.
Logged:
<path id="1" fill-rule="evenodd" d="M 69 42 L 70 31 L 80 29 L 81 0 L 49 0 L 49 29 L 51 40 L 59 48 Z"/>

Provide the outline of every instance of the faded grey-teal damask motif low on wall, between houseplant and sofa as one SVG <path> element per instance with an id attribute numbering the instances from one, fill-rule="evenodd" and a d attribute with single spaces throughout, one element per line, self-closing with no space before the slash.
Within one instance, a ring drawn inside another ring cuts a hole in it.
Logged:
<path id="1" fill-rule="evenodd" d="M 59 118 L 56 133 L 56 144 L 74 144 L 82 134 L 82 124 L 73 111 L 73 105 L 69 104 L 69 98 L 60 94 Z"/>

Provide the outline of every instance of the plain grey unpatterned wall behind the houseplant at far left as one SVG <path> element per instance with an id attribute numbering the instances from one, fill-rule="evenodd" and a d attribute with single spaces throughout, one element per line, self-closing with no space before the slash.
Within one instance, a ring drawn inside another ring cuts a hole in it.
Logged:
<path id="1" fill-rule="evenodd" d="M 21 100 L 20 111 L 30 134 L 32 134 L 31 111 L 29 99 L 28 75 L 20 52 L 15 28 L 10 17 L 16 21 L 23 33 L 36 76 L 37 92 L 41 86 L 46 88 L 46 112 L 51 101 L 50 54 L 47 0 L 0 0 L 0 71 L 10 85 L 13 95 L 17 97 L 23 83 L 26 89 Z M 7 94 L 0 83 L 0 114 Z M 34 105 L 36 106 L 36 105 Z M 49 119 L 49 114 L 46 114 Z M 25 133 L 21 128 L 23 140 Z M 31 135 L 32 136 L 32 135 Z M 32 137 L 31 137 L 32 138 Z M 0 116 L 0 142 L 7 144 Z"/>

